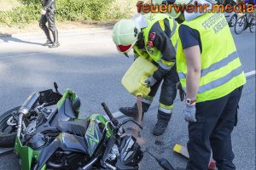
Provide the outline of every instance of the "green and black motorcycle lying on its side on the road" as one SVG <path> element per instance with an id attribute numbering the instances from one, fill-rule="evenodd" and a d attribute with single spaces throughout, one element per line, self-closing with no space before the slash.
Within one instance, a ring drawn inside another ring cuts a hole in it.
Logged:
<path id="1" fill-rule="evenodd" d="M 102 107 L 109 120 L 79 119 L 79 97 L 71 89 L 59 93 L 55 83 L 55 91 L 33 93 L 0 116 L 0 147 L 15 146 L 22 170 L 138 169 L 143 151 L 133 136 L 123 136 L 133 119 L 119 123 Z"/>

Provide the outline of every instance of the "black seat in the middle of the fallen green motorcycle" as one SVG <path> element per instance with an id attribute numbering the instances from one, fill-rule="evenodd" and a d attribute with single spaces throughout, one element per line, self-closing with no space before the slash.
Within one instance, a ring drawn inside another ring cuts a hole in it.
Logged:
<path id="1" fill-rule="evenodd" d="M 79 120 L 73 122 L 60 121 L 58 122 L 57 129 L 61 131 L 61 133 L 71 133 L 83 137 L 88 124 L 89 123 L 87 120 Z"/>

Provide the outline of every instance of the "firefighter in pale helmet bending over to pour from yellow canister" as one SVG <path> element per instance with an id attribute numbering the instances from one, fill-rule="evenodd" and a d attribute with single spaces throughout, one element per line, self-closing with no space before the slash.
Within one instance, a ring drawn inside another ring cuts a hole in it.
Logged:
<path id="1" fill-rule="evenodd" d="M 176 71 L 177 23 L 167 14 L 137 14 L 133 19 L 120 20 L 113 27 L 113 42 L 119 53 L 128 56 L 133 48 L 135 58 L 143 57 L 158 66 L 154 75 L 148 77 L 145 83 L 151 91 L 143 96 L 143 114 L 148 111 L 154 95 L 161 82 L 161 92 L 158 107 L 157 123 L 153 134 L 159 136 L 166 130 L 170 122 L 173 100 L 176 98 L 176 84 L 179 81 Z M 119 108 L 126 116 L 136 117 L 137 104 L 132 107 Z"/>

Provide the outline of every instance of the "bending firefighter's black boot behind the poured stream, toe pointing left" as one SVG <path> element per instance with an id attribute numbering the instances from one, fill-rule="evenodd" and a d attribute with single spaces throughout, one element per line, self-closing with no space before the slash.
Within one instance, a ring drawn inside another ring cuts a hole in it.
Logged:
<path id="1" fill-rule="evenodd" d="M 143 103 L 143 116 L 144 112 L 148 111 L 150 105 Z M 130 116 L 132 118 L 136 118 L 138 114 L 137 104 L 133 105 L 132 107 L 120 107 L 119 111 L 122 112 L 125 116 Z"/>

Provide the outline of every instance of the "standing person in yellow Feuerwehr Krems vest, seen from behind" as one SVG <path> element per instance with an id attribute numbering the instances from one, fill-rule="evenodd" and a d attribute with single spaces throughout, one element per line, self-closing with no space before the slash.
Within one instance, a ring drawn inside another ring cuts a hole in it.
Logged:
<path id="1" fill-rule="evenodd" d="M 190 0 L 175 3 L 194 4 Z M 211 150 L 219 170 L 235 170 L 231 133 L 246 77 L 229 25 L 224 14 L 173 10 L 171 15 L 182 22 L 178 29 L 177 72 L 186 90 L 187 170 L 206 170 Z"/>

